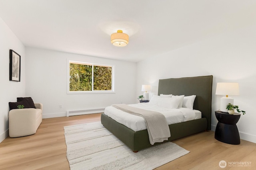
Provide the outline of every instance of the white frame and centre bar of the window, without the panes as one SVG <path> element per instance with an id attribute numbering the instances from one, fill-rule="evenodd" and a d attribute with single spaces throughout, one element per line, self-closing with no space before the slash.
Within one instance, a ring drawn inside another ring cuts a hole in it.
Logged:
<path id="1" fill-rule="evenodd" d="M 67 62 L 68 64 L 68 80 L 67 80 L 67 94 L 100 94 L 100 93 L 115 93 L 114 91 L 114 65 L 108 65 L 108 64 L 95 64 L 95 63 L 86 63 L 86 62 L 81 62 L 81 61 L 71 61 L 68 60 Z M 92 66 L 92 91 L 70 91 L 69 89 L 69 85 L 70 85 L 70 63 L 74 63 L 74 64 L 86 64 L 86 65 L 91 65 Z M 111 67 L 112 68 L 112 81 L 111 81 L 111 86 L 112 86 L 112 90 L 93 90 L 93 76 L 94 76 L 94 67 L 93 66 L 107 66 L 107 67 Z"/>

